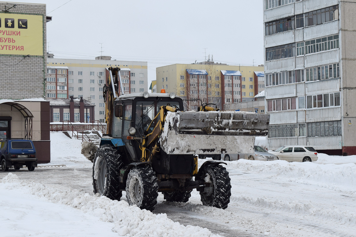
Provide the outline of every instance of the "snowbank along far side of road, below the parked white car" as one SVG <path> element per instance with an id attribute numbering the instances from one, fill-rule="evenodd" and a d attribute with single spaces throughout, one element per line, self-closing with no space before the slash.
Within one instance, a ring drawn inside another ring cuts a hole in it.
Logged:
<path id="1" fill-rule="evenodd" d="M 314 162 L 250 161 L 228 162 L 229 168 L 264 174 L 266 178 L 283 178 L 289 182 L 317 185 L 338 191 L 356 193 L 356 164 L 316 164 Z"/>

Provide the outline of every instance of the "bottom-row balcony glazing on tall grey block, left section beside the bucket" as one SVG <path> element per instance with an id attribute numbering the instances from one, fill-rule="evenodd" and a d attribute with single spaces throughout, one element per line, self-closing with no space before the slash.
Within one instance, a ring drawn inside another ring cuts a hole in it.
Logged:
<path id="1" fill-rule="evenodd" d="M 305 123 L 269 125 L 268 138 L 290 138 L 298 136 L 307 136 Z"/>

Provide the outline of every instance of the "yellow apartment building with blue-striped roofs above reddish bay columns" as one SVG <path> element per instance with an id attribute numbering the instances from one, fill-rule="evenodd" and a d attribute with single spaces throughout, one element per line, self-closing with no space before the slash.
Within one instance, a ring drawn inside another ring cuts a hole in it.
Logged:
<path id="1" fill-rule="evenodd" d="M 214 103 L 220 109 L 225 104 L 254 101 L 256 86 L 265 85 L 255 78 L 260 66 L 232 66 L 205 61 L 197 64 L 172 64 L 156 68 L 156 88 L 174 92 L 186 99 L 189 110 L 198 108 L 201 102 Z M 261 80 L 260 79 L 260 80 Z M 256 81 L 257 80 L 257 81 Z"/>

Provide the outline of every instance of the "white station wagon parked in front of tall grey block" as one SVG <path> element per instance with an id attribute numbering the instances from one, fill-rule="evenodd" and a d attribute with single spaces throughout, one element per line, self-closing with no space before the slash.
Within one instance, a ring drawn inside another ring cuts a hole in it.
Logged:
<path id="1" fill-rule="evenodd" d="M 312 146 L 281 146 L 275 151 L 268 151 L 285 161 L 317 161 L 318 152 Z"/>

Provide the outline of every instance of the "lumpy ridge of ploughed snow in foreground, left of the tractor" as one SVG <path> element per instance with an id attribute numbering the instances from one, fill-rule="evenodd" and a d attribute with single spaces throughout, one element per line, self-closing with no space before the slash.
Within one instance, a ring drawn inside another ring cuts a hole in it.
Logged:
<path id="1" fill-rule="evenodd" d="M 0 183 L 3 183 L 6 189 L 21 189 L 42 200 L 68 205 L 89 215 L 100 217 L 103 221 L 114 222 L 112 230 L 120 236 L 217 236 L 207 228 L 180 225 L 168 219 L 166 214 L 155 215 L 136 206 L 129 206 L 126 201 L 110 200 L 105 196 L 90 195 L 69 187 L 58 189 L 34 182 L 20 181 L 12 173 L 4 177 Z"/>

